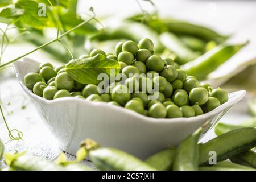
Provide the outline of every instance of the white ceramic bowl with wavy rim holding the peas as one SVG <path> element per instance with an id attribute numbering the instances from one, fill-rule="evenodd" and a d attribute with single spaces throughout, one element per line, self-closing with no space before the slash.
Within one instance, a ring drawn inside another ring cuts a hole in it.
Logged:
<path id="1" fill-rule="evenodd" d="M 228 102 L 197 117 L 155 119 L 81 98 L 45 100 L 33 94 L 23 82 L 24 76 L 38 71 L 38 67 L 38 62 L 27 58 L 14 63 L 16 77 L 27 97 L 59 140 L 60 147 L 72 155 L 76 154 L 82 140 L 92 138 L 102 146 L 119 148 L 145 159 L 168 146 L 177 146 L 203 124 L 204 134 L 207 133 L 246 94 L 245 90 L 230 93 Z"/>

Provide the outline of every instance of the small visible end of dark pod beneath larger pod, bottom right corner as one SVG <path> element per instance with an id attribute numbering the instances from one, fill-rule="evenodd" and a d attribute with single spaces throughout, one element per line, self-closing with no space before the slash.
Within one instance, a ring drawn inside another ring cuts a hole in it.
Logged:
<path id="1" fill-rule="evenodd" d="M 256 153 L 252 150 L 233 156 L 230 160 L 234 163 L 256 168 Z"/>

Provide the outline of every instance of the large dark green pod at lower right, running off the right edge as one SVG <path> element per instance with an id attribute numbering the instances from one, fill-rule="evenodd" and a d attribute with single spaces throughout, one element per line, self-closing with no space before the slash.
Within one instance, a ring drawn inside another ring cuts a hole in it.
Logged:
<path id="1" fill-rule="evenodd" d="M 256 146 L 256 128 L 245 127 L 219 135 L 199 146 L 199 164 L 209 164 L 209 152 L 216 152 L 217 162 L 236 156 Z"/>

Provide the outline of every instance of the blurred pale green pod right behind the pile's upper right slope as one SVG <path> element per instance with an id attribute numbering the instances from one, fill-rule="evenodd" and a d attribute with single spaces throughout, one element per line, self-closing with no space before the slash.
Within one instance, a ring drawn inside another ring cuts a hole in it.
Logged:
<path id="1" fill-rule="evenodd" d="M 198 52 L 189 49 L 175 34 L 164 32 L 160 35 L 160 40 L 170 51 L 177 56 L 177 63 L 185 64 L 200 56 Z"/>

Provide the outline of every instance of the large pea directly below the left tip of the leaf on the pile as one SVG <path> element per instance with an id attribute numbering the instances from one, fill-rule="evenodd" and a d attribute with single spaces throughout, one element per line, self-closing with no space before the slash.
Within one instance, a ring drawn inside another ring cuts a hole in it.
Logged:
<path id="1" fill-rule="evenodd" d="M 68 73 L 60 73 L 55 78 L 55 85 L 59 90 L 71 90 L 74 87 L 74 80 L 68 76 Z"/>

